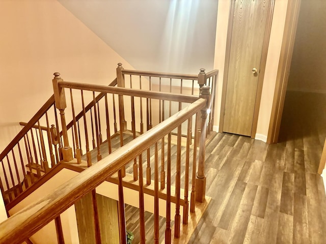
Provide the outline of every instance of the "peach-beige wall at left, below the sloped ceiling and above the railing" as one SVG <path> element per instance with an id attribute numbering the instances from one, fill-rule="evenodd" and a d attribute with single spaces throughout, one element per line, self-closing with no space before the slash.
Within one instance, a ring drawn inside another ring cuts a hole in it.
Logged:
<path id="1" fill-rule="evenodd" d="M 108 84 L 127 62 L 57 1 L 0 1 L 0 151 L 53 94 L 53 72 Z M 28 105 L 27 105 L 28 104 Z"/>

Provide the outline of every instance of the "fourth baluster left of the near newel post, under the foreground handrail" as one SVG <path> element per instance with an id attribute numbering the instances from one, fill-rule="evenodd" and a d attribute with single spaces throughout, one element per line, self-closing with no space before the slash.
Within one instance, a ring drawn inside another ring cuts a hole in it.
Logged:
<path id="1" fill-rule="evenodd" d="M 171 243 L 171 133 L 168 134 L 167 212 L 166 212 L 165 243 Z"/>

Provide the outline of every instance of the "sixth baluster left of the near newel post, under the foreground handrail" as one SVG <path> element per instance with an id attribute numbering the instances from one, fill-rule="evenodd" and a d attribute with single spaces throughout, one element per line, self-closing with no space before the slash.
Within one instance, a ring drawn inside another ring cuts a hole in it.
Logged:
<path id="1" fill-rule="evenodd" d="M 143 154 L 139 155 L 139 230 L 140 243 L 145 243 L 145 207 L 144 207 L 144 181 L 143 181 Z"/>

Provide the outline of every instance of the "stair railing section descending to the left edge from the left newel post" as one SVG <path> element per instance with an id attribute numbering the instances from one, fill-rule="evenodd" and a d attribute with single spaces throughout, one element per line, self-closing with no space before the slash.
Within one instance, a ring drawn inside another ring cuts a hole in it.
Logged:
<path id="1" fill-rule="evenodd" d="M 41 123 L 47 125 L 46 129 Z M 12 201 L 23 188 L 31 186 L 37 177 L 60 161 L 61 143 L 54 136 L 58 132 L 55 98 L 51 96 L 0 154 L 0 187 L 5 202 Z"/>

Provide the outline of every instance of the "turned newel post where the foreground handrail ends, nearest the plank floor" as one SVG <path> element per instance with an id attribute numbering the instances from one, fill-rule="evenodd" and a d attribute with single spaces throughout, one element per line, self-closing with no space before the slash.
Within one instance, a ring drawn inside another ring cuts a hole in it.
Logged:
<path id="1" fill-rule="evenodd" d="M 196 201 L 203 202 L 206 193 L 206 176 L 205 176 L 205 140 L 207 130 L 207 109 L 209 108 L 210 93 L 209 86 L 203 85 L 200 90 L 200 98 L 206 99 L 206 107 L 201 110 L 200 137 L 199 137 L 199 154 L 198 154 L 198 171 L 196 177 Z"/>

